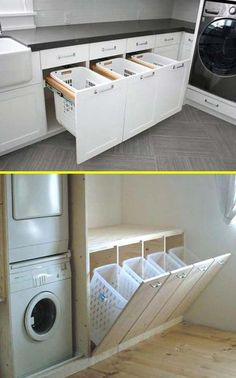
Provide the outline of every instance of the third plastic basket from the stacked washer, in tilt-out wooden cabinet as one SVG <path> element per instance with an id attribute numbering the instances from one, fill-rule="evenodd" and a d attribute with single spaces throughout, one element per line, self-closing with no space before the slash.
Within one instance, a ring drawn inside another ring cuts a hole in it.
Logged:
<path id="1" fill-rule="evenodd" d="M 178 262 L 165 252 L 152 253 L 147 256 L 147 259 L 155 268 L 161 267 L 165 272 L 171 272 L 185 266 L 185 264 Z"/>

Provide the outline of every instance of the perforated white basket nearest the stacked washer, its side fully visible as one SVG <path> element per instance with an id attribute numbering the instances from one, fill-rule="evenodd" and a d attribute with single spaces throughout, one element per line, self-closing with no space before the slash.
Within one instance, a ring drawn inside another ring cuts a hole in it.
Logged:
<path id="1" fill-rule="evenodd" d="M 91 340 L 98 345 L 139 284 L 117 264 L 94 270 L 90 285 Z"/>

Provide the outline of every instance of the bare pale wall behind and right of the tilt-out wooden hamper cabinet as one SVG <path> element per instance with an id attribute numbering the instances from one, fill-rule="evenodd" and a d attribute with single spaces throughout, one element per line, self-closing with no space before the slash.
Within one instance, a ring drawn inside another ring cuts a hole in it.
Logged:
<path id="1" fill-rule="evenodd" d="M 233 257 L 201 295 L 187 320 L 236 330 L 236 225 L 224 224 L 214 176 L 124 176 L 124 223 L 180 227 L 186 246 L 200 258 Z"/>

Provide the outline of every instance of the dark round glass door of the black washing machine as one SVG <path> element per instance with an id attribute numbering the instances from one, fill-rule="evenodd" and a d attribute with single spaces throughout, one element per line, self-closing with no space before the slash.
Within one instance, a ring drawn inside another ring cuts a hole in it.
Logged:
<path id="1" fill-rule="evenodd" d="M 212 73 L 236 75 L 236 20 L 224 18 L 210 23 L 201 34 L 199 56 Z"/>

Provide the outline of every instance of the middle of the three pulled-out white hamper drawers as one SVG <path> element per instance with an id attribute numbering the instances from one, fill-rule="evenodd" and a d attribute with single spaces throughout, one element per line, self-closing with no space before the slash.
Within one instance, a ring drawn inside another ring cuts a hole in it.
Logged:
<path id="1" fill-rule="evenodd" d="M 148 129 L 155 123 L 156 72 L 127 59 L 102 61 L 93 69 L 106 77 L 116 73 L 125 79 L 126 111 L 123 140 Z"/>

